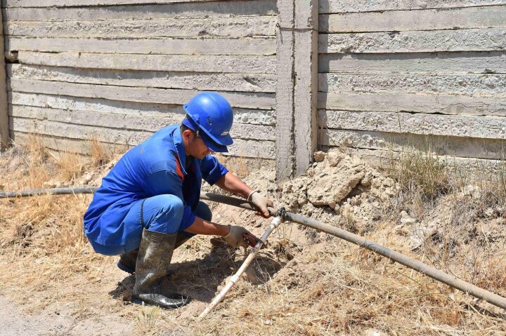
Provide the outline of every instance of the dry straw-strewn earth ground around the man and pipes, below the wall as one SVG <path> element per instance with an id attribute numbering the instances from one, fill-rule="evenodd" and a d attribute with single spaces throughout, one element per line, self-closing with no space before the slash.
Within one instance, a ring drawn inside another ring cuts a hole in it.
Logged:
<path id="1" fill-rule="evenodd" d="M 0 190 L 98 185 L 114 160 L 92 159 L 15 146 L 1 153 Z M 466 186 L 421 203 L 356 158 L 335 152 L 316 159 L 305 177 L 280 189 L 272 171 L 246 180 L 276 206 L 506 296 L 504 209 L 484 203 L 484 189 Z M 117 269 L 117 257 L 93 253 L 82 234 L 90 201 L 0 200 L 1 335 L 506 335 L 501 309 L 296 224 L 271 236 L 244 281 L 207 318 L 197 316 L 246 255 L 206 236 L 176 250 L 165 280 L 193 301 L 176 310 L 139 306 L 130 302 L 134 277 Z M 269 222 L 211 206 L 214 221 L 254 234 Z"/>

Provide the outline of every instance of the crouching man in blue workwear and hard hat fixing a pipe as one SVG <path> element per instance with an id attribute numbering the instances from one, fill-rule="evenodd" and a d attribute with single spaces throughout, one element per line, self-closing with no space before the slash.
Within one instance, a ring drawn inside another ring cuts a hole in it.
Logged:
<path id="1" fill-rule="evenodd" d="M 232 145 L 230 104 L 204 92 L 183 106 L 181 125 L 158 130 L 118 161 L 84 214 L 84 233 L 97 253 L 121 255 L 118 267 L 135 272 L 134 300 L 164 308 L 187 304 L 186 295 L 160 286 L 174 249 L 195 234 L 222 236 L 247 246 L 247 229 L 220 225 L 200 201 L 202 179 L 252 201 L 264 217 L 273 202 L 252 190 L 211 156 Z"/>

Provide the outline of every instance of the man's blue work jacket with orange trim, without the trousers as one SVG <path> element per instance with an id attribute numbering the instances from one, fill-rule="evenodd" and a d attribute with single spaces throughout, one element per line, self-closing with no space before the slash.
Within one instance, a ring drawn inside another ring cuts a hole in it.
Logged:
<path id="1" fill-rule="evenodd" d="M 202 178 L 214 184 L 228 170 L 211 155 L 191 159 L 193 162 L 187 164 L 179 125 L 158 130 L 126 152 L 103 178 L 84 214 L 84 233 L 89 240 L 103 246 L 127 245 L 129 239 L 138 236 L 141 222 L 128 227 L 124 217 L 137 205 L 133 209 L 141 218 L 138 202 L 161 194 L 175 195 L 183 201 L 180 231 L 193 224 Z"/>

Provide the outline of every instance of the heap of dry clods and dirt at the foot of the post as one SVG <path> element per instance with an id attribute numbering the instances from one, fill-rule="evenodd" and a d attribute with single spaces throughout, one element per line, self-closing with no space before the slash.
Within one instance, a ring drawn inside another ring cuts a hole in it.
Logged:
<path id="1" fill-rule="evenodd" d="M 280 205 L 293 213 L 363 232 L 381 219 L 397 193 L 390 177 L 339 151 L 316 152 L 305 176 L 283 184 Z"/>

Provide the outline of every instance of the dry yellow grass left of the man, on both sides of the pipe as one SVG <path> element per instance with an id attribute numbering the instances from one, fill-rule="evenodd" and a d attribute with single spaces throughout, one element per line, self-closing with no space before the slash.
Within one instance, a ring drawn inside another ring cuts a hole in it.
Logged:
<path id="1" fill-rule="evenodd" d="M 92 168 L 83 156 L 49 152 L 36 136 L 30 136 L 23 145 L 14 144 L 1 159 L 4 171 L 0 184 L 7 190 L 44 188 L 50 180 L 70 183 L 85 169 Z M 89 260 L 104 259 L 90 255 L 91 248 L 83 234 L 82 215 L 90 201 L 89 195 L 0 201 L 4 228 L 0 233 L 0 281 L 6 289 L 18 288 L 14 296 L 23 295 L 20 288 L 72 296 L 75 290 L 62 288 L 62 282 L 86 273 Z M 40 304 L 50 304 L 49 301 Z"/>

